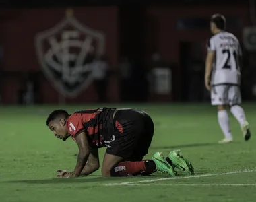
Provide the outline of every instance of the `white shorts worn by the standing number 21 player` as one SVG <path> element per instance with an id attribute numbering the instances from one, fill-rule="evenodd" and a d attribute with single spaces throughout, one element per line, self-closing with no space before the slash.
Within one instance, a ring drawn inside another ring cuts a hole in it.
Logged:
<path id="1" fill-rule="evenodd" d="M 212 105 L 241 104 L 240 87 L 235 85 L 212 86 Z"/>

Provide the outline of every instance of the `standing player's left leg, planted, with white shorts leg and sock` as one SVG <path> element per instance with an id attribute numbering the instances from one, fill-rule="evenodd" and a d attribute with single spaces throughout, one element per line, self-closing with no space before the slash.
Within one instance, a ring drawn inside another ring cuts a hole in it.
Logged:
<path id="1" fill-rule="evenodd" d="M 228 88 L 229 86 L 214 86 L 211 90 L 212 105 L 217 106 L 218 123 L 225 137 L 219 143 L 232 142 L 228 112 L 226 110 L 226 104 L 228 104 Z"/>

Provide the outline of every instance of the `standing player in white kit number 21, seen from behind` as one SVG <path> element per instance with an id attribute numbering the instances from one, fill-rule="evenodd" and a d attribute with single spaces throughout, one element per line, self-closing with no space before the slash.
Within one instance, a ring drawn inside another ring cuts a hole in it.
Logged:
<path id="1" fill-rule="evenodd" d="M 207 44 L 205 87 L 211 92 L 212 105 L 218 108 L 218 123 L 224 133 L 224 139 L 219 143 L 230 143 L 233 140 L 226 111 L 228 106 L 240 123 L 247 141 L 251 137 L 249 123 L 243 108 L 239 106 L 241 104 L 241 47 L 236 36 L 225 31 L 226 19 L 223 15 L 212 15 L 210 29 L 214 36 Z"/>

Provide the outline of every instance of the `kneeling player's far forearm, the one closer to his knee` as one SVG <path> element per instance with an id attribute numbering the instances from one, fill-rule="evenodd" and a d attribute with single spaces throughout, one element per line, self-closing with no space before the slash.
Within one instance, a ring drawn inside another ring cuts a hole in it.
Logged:
<path id="1" fill-rule="evenodd" d="M 92 174 L 99 168 L 100 168 L 100 161 L 98 158 L 98 149 L 93 148 L 90 151 L 88 163 L 86 164 L 86 166 L 84 166 L 84 169 L 82 170 L 81 175 Z"/>

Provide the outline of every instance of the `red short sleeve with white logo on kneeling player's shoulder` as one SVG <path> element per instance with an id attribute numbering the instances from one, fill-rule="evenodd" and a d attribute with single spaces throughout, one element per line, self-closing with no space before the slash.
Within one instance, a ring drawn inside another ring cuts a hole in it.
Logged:
<path id="1" fill-rule="evenodd" d="M 69 116 L 69 119 L 67 119 L 66 129 L 72 137 L 75 137 L 75 135 L 85 131 L 82 123 L 82 117 L 77 116 L 76 114 Z"/>

